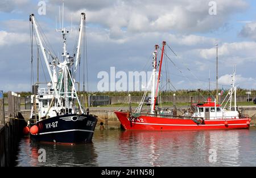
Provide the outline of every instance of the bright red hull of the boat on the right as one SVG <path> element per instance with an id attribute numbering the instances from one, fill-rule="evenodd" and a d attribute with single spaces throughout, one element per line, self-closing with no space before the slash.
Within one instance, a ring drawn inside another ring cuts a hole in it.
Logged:
<path id="1" fill-rule="evenodd" d="M 139 116 L 128 118 L 126 112 L 115 111 L 123 128 L 126 130 L 217 130 L 217 129 L 246 129 L 249 128 L 249 118 L 205 120 L 204 124 L 196 124 L 191 119 L 167 118 L 155 116 Z M 225 125 L 225 121 L 228 124 Z"/>

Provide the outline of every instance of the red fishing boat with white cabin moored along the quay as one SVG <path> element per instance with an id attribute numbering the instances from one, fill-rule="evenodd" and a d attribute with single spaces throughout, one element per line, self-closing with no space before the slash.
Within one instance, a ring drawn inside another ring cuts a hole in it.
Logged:
<path id="1" fill-rule="evenodd" d="M 156 100 L 159 97 L 159 82 L 165 45 L 166 42 L 163 41 L 159 65 L 156 61 L 159 46 L 155 45 L 152 75 L 141 103 L 135 111 L 131 112 L 131 109 L 127 112 L 114 111 L 125 130 L 214 130 L 249 128 L 251 118 L 238 112 L 236 105 L 236 86 L 234 85 L 235 70 L 233 73 L 232 88 L 230 88 L 228 95 L 226 95 L 226 98 L 221 104 L 217 103 L 217 97 L 214 98 L 214 101 L 209 97 L 205 103 L 191 105 L 191 108 L 181 116 L 177 116 L 175 112 L 171 114 L 164 113 L 161 108 L 156 108 Z M 145 104 L 144 101 L 150 87 L 150 109 L 148 112 L 143 113 L 142 107 Z M 233 94 L 234 107 L 232 107 Z M 226 107 L 228 103 L 229 105 Z M 224 105 L 224 107 L 222 107 L 222 105 Z"/>

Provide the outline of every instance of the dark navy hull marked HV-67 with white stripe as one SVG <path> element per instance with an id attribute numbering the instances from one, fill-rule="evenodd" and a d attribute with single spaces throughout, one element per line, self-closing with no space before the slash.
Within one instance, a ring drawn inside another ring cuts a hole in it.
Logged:
<path id="1" fill-rule="evenodd" d="M 55 143 L 92 142 L 97 118 L 92 115 L 63 115 L 36 122 L 37 134 L 33 141 Z"/>

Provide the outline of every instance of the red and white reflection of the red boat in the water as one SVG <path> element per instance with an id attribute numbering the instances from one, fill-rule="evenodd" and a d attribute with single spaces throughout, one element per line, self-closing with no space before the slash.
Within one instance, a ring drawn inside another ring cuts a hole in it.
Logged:
<path id="1" fill-rule="evenodd" d="M 240 137 L 248 133 L 249 130 L 125 131 L 119 143 L 129 147 L 146 166 L 241 166 Z"/>

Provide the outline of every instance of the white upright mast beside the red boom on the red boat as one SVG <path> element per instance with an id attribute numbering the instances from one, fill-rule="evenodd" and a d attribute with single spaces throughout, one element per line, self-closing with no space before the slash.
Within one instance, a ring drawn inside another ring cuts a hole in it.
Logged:
<path id="1" fill-rule="evenodd" d="M 156 77 L 156 59 L 157 59 L 157 54 L 158 54 L 158 45 L 155 45 L 155 51 L 153 53 L 153 71 L 152 71 L 152 87 L 151 87 L 151 114 L 155 113 L 155 77 Z"/>

